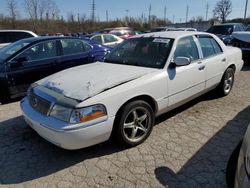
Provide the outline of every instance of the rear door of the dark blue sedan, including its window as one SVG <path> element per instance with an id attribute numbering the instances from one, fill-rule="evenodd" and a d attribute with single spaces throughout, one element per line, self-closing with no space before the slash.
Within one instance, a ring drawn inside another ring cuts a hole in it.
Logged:
<path id="1" fill-rule="evenodd" d="M 94 62 L 93 47 L 80 39 L 60 40 L 60 59 L 53 64 L 53 71 Z"/>

